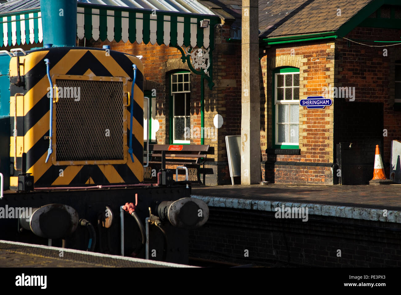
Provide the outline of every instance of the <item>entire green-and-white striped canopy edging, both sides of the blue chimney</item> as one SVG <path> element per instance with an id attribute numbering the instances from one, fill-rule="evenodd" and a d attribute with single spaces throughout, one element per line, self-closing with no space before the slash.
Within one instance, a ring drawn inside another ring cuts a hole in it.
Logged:
<path id="1" fill-rule="evenodd" d="M 3 14 L 0 20 L 2 47 L 43 41 L 40 9 Z M 209 26 L 201 28 L 201 20 L 209 20 Z M 79 3 L 77 37 L 207 49 L 213 47 L 213 26 L 219 21 L 214 15 Z"/>

